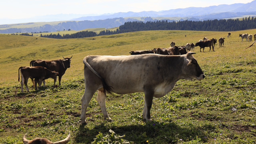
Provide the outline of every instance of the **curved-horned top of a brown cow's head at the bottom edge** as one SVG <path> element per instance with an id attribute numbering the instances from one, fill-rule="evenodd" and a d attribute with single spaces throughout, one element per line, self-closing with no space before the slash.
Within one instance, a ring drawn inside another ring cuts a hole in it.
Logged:
<path id="1" fill-rule="evenodd" d="M 26 134 L 23 136 L 23 143 L 24 144 L 67 144 L 70 140 L 70 133 L 64 140 L 60 140 L 58 142 L 51 142 L 46 138 L 34 138 L 33 140 L 27 140 Z"/>

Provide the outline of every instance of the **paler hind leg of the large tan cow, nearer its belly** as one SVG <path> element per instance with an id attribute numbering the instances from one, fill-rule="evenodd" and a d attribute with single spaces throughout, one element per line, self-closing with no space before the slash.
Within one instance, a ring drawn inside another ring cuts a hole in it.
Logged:
<path id="1" fill-rule="evenodd" d="M 112 121 L 112 119 L 108 116 L 108 112 L 106 110 L 106 94 L 104 93 L 103 90 L 98 90 L 97 102 L 100 105 L 100 109 L 103 113 L 104 119 L 108 121 Z"/>

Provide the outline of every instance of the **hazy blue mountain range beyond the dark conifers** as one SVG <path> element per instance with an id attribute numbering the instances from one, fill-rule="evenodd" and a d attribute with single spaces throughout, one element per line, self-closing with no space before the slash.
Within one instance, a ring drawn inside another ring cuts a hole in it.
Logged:
<path id="1" fill-rule="evenodd" d="M 218 6 L 179 8 L 159 12 L 118 12 L 100 16 L 84 16 L 82 14 L 46 15 L 24 19 L 24 21 L 29 23 L 2 24 L 0 25 L 0 33 L 55 32 L 63 29 L 83 30 L 86 28 L 113 28 L 118 27 L 125 22 L 138 20 L 144 22 L 156 20 L 168 20 L 170 22 L 178 20 L 200 21 L 238 18 L 243 16 L 256 16 L 256 0 L 247 4 L 221 4 Z M 8 21 L 6 19 L 0 19 L 0 21 L 2 20 Z M 15 20 L 12 20 L 12 22 L 15 22 Z M 15 27 L 16 25 L 19 25 L 19 28 Z M 21 25 L 22 27 L 20 27 Z"/>

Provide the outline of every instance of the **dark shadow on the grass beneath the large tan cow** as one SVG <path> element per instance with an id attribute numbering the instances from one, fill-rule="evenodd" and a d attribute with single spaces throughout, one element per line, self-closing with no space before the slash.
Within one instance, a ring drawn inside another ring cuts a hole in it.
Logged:
<path id="1" fill-rule="evenodd" d="M 125 135 L 122 139 L 134 142 L 135 144 L 148 143 L 177 143 L 179 141 L 198 140 L 199 142 L 207 142 L 207 131 L 215 130 L 215 126 L 203 124 L 187 124 L 179 126 L 174 122 L 146 122 L 141 125 L 112 126 L 111 124 L 102 123 L 93 129 L 88 129 L 86 125 L 80 125 L 78 134 L 75 137 L 77 143 L 91 143 L 94 138 L 101 132 L 103 136 L 111 134 L 109 130 L 113 130 L 119 136 Z"/>

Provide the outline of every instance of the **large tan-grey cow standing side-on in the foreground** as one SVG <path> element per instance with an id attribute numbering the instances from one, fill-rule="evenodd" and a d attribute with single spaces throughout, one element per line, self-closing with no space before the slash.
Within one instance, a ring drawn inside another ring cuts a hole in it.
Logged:
<path id="1" fill-rule="evenodd" d="M 86 56 L 84 62 L 84 95 L 81 98 L 81 120 L 86 124 L 86 109 L 98 90 L 97 101 L 106 120 L 106 92 L 130 94 L 144 92 L 143 119 L 151 121 L 153 97 L 160 98 L 172 90 L 180 79 L 202 80 L 205 76 L 189 52 L 178 56 L 142 54 L 133 56 Z"/>

